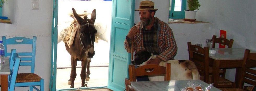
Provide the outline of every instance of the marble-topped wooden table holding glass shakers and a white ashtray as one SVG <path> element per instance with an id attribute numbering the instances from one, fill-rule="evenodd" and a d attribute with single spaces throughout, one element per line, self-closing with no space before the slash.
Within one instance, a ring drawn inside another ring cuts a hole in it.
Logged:
<path id="1" fill-rule="evenodd" d="M 219 79 L 219 69 L 221 68 L 236 68 L 235 83 L 238 86 L 239 72 L 243 63 L 245 49 L 243 48 L 212 48 L 216 54 L 209 54 L 209 65 L 213 67 L 212 83 L 217 87 Z M 251 51 L 254 53 L 255 51 Z M 195 56 L 202 56 L 194 53 Z M 256 62 L 251 61 L 250 67 L 256 67 Z"/>

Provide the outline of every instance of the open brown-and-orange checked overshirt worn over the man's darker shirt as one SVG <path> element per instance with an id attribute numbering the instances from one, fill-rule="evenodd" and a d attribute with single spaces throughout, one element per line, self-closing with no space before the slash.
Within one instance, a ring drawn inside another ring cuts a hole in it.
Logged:
<path id="1" fill-rule="evenodd" d="M 177 54 L 177 45 L 172 33 L 172 29 L 163 21 L 160 21 L 158 18 L 155 18 L 155 22 L 158 22 L 157 29 L 157 46 L 159 48 L 160 54 L 157 56 L 162 61 L 173 60 L 174 56 Z M 138 32 L 134 35 L 133 50 L 135 54 L 139 50 L 146 50 L 143 44 L 143 34 L 142 28 L 143 25 L 141 22 L 136 24 Z M 127 52 L 131 53 L 131 40 L 126 36 L 124 41 L 125 49 Z"/>

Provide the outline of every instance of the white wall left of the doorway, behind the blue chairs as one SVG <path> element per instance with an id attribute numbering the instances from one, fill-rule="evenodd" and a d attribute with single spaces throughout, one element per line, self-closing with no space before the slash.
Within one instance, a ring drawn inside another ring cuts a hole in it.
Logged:
<path id="1" fill-rule="evenodd" d="M 3 15 L 13 24 L 0 23 L 0 40 L 23 36 L 37 36 L 35 73 L 44 79 L 45 91 L 49 89 L 51 64 L 51 25 L 53 18 L 53 0 L 39 0 L 39 10 L 32 10 L 32 0 L 8 0 L 4 4 Z M 21 49 L 26 50 L 26 48 Z M 21 51 L 18 50 L 17 51 Z M 19 72 L 26 72 L 20 68 Z M 17 87 L 15 91 L 27 91 L 28 87 Z"/>

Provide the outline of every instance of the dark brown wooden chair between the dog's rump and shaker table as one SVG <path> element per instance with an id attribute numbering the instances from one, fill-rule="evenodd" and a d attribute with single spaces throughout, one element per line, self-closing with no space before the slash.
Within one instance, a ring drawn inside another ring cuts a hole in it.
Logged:
<path id="1" fill-rule="evenodd" d="M 196 45 L 192 45 L 191 42 L 188 42 L 188 50 L 189 50 L 189 60 L 193 61 L 198 69 L 199 74 L 201 75 L 201 80 L 206 83 L 211 83 L 212 76 L 209 74 L 209 48 L 208 47 L 200 47 Z M 199 53 L 199 54 L 197 54 Z M 200 55 L 202 54 L 202 55 Z M 218 87 L 233 87 L 235 83 L 231 81 L 219 77 Z"/>

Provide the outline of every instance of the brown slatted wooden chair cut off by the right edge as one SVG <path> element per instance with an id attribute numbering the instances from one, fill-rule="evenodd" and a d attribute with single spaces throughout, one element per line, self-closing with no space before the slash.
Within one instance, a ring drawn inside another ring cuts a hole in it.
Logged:
<path id="1" fill-rule="evenodd" d="M 256 70 L 251 69 L 250 65 L 255 65 L 251 64 L 249 62 L 254 62 L 256 61 L 256 53 L 250 53 L 250 50 L 246 49 L 245 54 L 243 57 L 243 64 L 241 68 L 241 76 L 239 77 L 239 82 L 238 82 L 238 88 L 219 88 L 223 91 L 236 91 L 236 90 L 246 90 L 246 91 L 252 91 L 254 89 L 254 86 L 256 85 Z M 244 86 L 244 83 L 251 84 L 252 86 Z"/>

